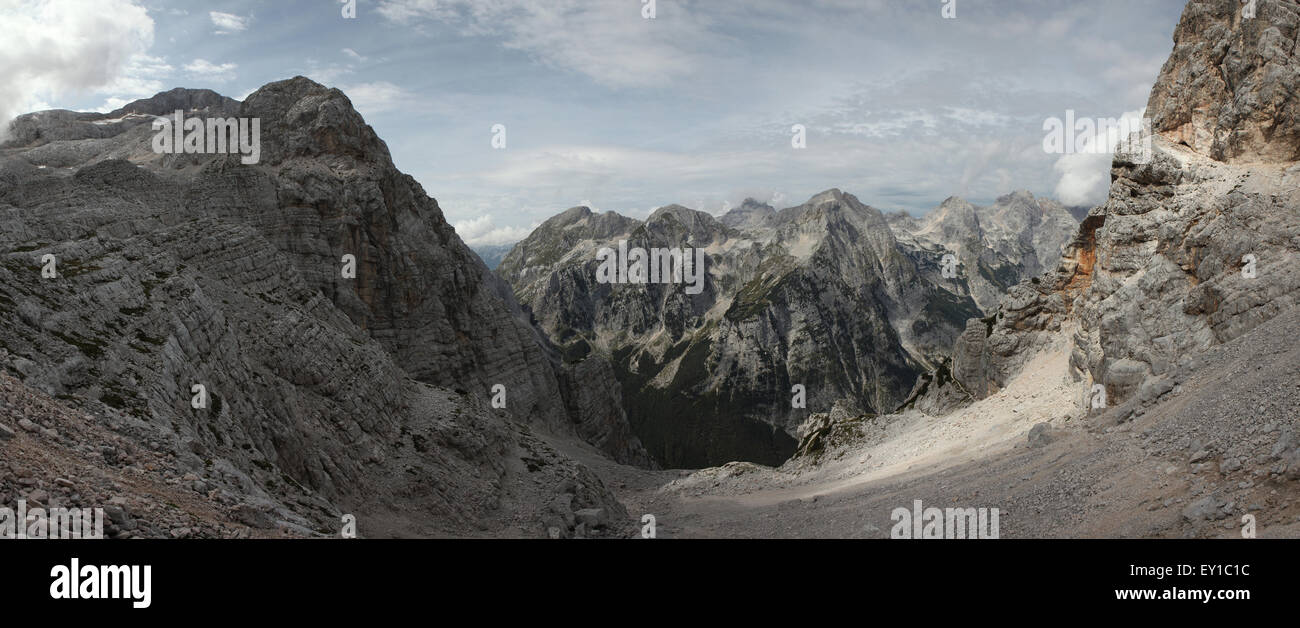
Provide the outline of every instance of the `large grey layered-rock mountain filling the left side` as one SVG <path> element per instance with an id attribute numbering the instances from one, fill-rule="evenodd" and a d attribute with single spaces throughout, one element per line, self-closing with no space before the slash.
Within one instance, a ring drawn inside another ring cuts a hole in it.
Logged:
<path id="1" fill-rule="evenodd" d="M 155 153 L 151 124 L 176 109 L 259 118 L 260 163 Z M 21 386 L 300 533 L 337 533 L 339 514 L 376 536 L 566 536 L 584 507 L 623 520 L 547 443 L 650 463 L 593 376 L 608 364 L 559 360 L 338 90 L 178 90 L 13 129 L 0 368 Z"/>

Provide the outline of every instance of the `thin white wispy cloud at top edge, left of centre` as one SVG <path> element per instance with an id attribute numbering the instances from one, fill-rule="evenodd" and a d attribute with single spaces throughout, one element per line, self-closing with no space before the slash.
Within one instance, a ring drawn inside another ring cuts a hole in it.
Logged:
<path id="1" fill-rule="evenodd" d="M 384 0 L 396 23 L 445 22 L 469 36 L 502 38 L 543 64 L 586 74 L 611 87 L 662 86 L 718 61 L 728 39 L 702 12 L 660 3 L 655 20 L 641 3 L 590 0 Z"/>

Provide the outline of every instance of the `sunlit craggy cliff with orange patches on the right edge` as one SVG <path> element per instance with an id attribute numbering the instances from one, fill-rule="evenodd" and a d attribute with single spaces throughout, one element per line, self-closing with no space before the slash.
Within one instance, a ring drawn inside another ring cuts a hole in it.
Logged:
<path id="1" fill-rule="evenodd" d="M 1295 307 L 1300 121 L 1283 95 L 1300 88 L 1297 25 L 1294 1 L 1249 20 L 1231 0 L 1188 3 L 1148 104 L 1152 159 L 1115 156 L 1109 199 L 1060 268 L 1014 289 L 985 338 L 957 343 L 954 377 L 996 390 L 1039 334 L 1070 329 L 1080 387 L 1119 404 Z"/>

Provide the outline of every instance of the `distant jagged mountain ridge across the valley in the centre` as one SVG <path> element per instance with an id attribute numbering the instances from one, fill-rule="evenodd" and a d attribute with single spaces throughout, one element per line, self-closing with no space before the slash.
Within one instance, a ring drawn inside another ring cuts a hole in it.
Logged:
<path id="1" fill-rule="evenodd" d="M 979 302 L 1041 272 L 1074 226 L 1028 192 L 987 208 L 949 199 L 924 220 L 840 190 L 780 211 L 749 199 L 720 217 L 576 207 L 497 272 L 567 356 L 612 359 L 633 430 L 663 464 L 775 464 L 794 451 L 809 407 L 898 407 L 966 320 L 984 316 Z M 702 290 L 599 282 L 599 251 L 620 243 L 703 250 Z"/>

